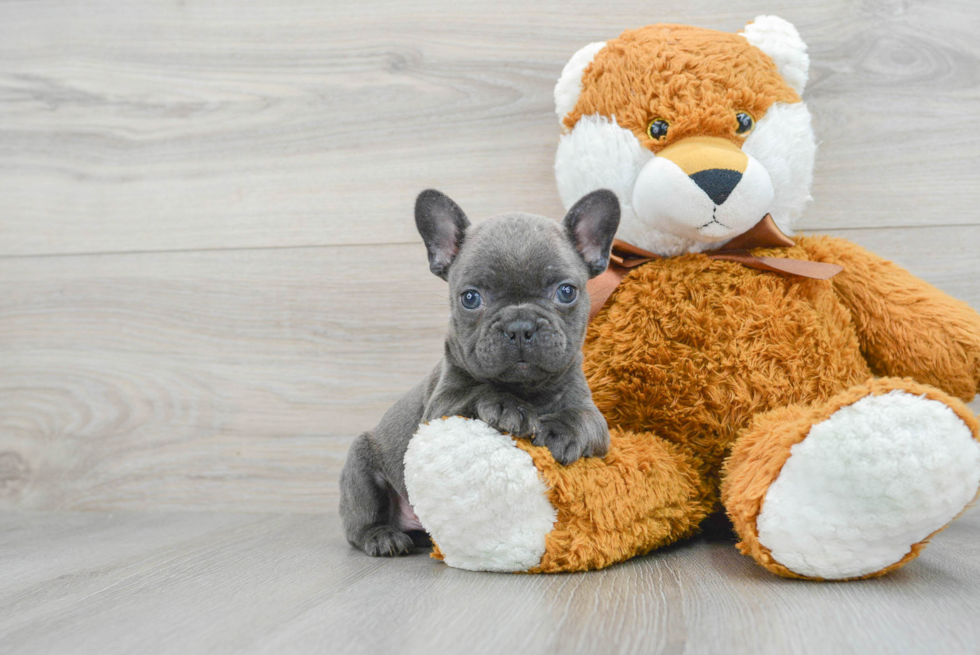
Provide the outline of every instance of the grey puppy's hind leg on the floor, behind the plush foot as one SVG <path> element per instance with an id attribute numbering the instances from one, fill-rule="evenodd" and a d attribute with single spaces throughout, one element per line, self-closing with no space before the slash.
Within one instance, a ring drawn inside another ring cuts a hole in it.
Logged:
<path id="1" fill-rule="evenodd" d="M 340 516 L 351 545 L 372 557 L 411 552 L 412 538 L 398 529 L 391 491 L 382 475 L 379 456 L 365 432 L 351 445 L 340 473 Z"/>

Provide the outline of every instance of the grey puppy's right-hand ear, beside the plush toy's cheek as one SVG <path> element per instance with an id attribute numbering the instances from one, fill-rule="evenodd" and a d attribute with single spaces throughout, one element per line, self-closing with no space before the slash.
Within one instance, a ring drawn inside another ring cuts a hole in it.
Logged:
<path id="1" fill-rule="evenodd" d="M 575 250 L 595 277 L 609 265 L 609 249 L 619 227 L 619 198 L 608 189 L 582 196 L 562 221 Z"/>

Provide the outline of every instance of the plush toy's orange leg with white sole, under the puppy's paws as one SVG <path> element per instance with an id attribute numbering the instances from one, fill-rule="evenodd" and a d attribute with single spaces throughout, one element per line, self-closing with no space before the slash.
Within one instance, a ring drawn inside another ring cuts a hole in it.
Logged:
<path id="1" fill-rule="evenodd" d="M 602 568 L 696 530 L 713 489 L 652 434 L 613 430 L 603 458 L 557 464 L 547 448 L 482 421 L 422 426 L 405 455 L 409 501 L 457 568 Z"/>

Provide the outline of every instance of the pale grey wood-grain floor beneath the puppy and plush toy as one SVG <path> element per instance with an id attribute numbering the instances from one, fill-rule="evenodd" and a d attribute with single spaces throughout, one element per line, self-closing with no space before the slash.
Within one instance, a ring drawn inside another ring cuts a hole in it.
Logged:
<path id="1" fill-rule="evenodd" d="M 351 549 L 335 514 L 0 513 L 21 653 L 974 653 L 980 511 L 878 580 L 776 578 L 724 538 L 505 575 Z"/>

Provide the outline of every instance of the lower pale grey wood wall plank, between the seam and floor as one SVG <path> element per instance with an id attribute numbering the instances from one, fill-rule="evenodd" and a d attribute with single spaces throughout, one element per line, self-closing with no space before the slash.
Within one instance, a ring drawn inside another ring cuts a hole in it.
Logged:
<path id="1" fill-rule="evenodd" d="M 980 308 L 980 227 L 844 234 Z M 0 288 L 22 509 L 328 510 L 448 314 L 420 245 L 7 258 Z"/>

